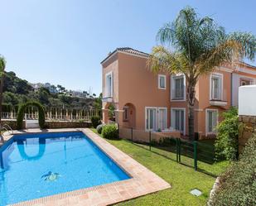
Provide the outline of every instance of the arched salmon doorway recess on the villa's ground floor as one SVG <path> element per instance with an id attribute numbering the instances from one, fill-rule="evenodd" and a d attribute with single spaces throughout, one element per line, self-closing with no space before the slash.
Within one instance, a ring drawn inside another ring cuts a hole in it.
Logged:
<path id="1" fill-rule="evenodd" d="M 136 127 L 136 109 L 133 103 L 123 106 L 123 127 Z"/>

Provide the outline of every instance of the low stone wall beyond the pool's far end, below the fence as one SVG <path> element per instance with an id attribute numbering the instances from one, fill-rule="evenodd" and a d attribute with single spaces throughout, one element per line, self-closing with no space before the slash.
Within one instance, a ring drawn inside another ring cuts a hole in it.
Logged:
<path id="1" fill-rule="evenodd" d="M 17 123 L 16 120 L 2 120 L 2 125 L 7 124 L 9 125 L 13 130 L 17 129 Z M 25 128 L 25 121 L 23 121 L 23 127 Z M 91 122 L 68 122 L 68 121 L 46 121 L 46 127 L 47 128 L 85 128 L 85 127 L 91 127 Z"/>

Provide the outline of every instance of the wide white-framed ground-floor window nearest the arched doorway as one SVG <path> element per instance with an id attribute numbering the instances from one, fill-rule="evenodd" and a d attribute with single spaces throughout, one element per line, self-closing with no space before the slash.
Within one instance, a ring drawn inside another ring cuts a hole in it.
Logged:
<path id="1" fill-rule="evenodd" d="M 146 130 L 167 128 L 167 108 L 146 108 Z"/>

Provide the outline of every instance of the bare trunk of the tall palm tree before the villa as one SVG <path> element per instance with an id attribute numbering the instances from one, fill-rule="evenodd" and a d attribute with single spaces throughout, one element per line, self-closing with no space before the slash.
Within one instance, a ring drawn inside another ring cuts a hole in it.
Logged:
<path id="1" fill-rule="evenodd" d="M 195 116 L 195 85 L 189 84 L 187 88 L 188 96 L 188 135 L 192 141 L 195 139 L 194 116 Z"/>

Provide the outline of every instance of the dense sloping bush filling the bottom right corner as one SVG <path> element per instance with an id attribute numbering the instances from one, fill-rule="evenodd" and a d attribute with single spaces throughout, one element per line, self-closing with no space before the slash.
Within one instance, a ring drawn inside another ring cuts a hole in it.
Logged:
<path id="1" fill-rule="evenodd" d="M 256 205 L 255 148 L 256 136 L 249 138 L 240 160 L 220 176 L 220 186 L 210 200 L 210 205 Z"/>

